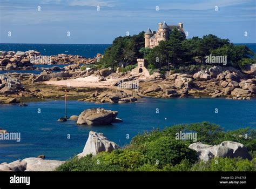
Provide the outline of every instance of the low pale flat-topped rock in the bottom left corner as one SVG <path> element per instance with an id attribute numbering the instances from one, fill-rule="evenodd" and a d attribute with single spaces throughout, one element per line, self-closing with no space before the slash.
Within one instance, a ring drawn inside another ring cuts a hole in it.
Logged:
<path id="1" fill-rule="evenodd" d="M 65 163 L 59 160 L 45 160 L 42 158 L 25 158 L 11 163 L 0 164 L 0 171 L 54 171 Z"/>

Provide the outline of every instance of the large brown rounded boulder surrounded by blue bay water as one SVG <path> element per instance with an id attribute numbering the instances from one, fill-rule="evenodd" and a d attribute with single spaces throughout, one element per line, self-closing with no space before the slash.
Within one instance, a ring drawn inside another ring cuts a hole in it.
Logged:
<path id="1" fill-rule="evenodd" d="M 117 111 L 105 109 L 87 109 L 80 113 L 77 124 L 78 125 L 109 125 L 117 117 Z"/>

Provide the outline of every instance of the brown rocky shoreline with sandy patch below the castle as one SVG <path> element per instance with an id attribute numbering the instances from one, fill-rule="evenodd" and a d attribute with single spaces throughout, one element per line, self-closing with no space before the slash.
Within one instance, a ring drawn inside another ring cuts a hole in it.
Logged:
<path id="1" fill-rule="evenodd" d="M 40 55 L 37 51 L 1 51 L 0 67 L 10 69 L 31 69 L 30 58 Z M 80 56 L 53 56 L 52 64 L 66 64 L 64 68 L 44 69 L 33 73 L 4 73 L 0 77 L 0 103 L 41 101 L 44 99 L 64 99 L 68 90 L 68 100 L 82 100 L 95 103 L 130 103 L 139 98 L 184 98 L 184 97 L 224 97 L 228 99 L 250 100 L 256 96 L 256 65 L 246 70 L 232 67 L 212 66 L 195 73 L 164 74 L 154 72 L 150 76 L 125 73 L 112 69 L 81 69 L 82 64 L 95 63 Z M 66 57 L 66 58 L 64 58 Z M 84 62 L 84 60 L 86 60 Z M 28 63 L 28 64 L 26 64 Z M 42 68 L 40 68 L 42 69 Z M 59 72 L 53 72 L 59 70 Z M 132 86 L 132 87 L 131 87 Z"/>

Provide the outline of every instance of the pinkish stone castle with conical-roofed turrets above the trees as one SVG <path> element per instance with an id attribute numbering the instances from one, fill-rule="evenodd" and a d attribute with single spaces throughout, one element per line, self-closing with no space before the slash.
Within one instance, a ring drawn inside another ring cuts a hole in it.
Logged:
<path id="1" fill-rule="evenodd" d="M 152 32 L 150 28 L 148 28 L 144 35 L 145 48 L 152 49 L 157 46 L 161 40 L 167 40 L 174 28 L 177 28 L 181 32 L 181 34 L 185 36 L 185 32 L 183 30 L 183 23 L 179 23 L 178 25 L 167 25 L 166 22 L 159 23 L 157 32 Z"/>

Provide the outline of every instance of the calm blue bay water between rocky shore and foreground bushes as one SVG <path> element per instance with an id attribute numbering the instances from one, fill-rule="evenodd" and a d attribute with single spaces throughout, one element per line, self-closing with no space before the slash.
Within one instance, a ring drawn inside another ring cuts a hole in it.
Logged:
<path id="1" fill-rule="evenodd" d="M 102 132 L 121 146 L 138 133 L 153 128 L 163 129 L 173 124 L 212 122 L 234 130 L 256 129 L 256 100 L 227 99 L 156 99 L 143 98 L 138 103 L 95 104 L 68 102 L 68 116 L 78 115 L 91 107 L 117 110 L 123 123 L 105 126 L 77 126 L 76 122 L 57 122 L 64 116 L 64 101 L 33 102 L 20 107 L 0 104 L 0 127 L 9 132 L 21 132 L 21 142 L 0 140 L 0 163 L 45 154 L 47 159 L 66 160 L 83 151 L 90 131 Z M 218 113 L 215 109 L 218 108 Z M 41 109 L 41 113 L 38 113 Z M 156 113 L 159 109 L 159 113 Z M 68 139 L 70 134 L 70 139 Z M 126 139 L 126 134 L 130 139 Z"/>

